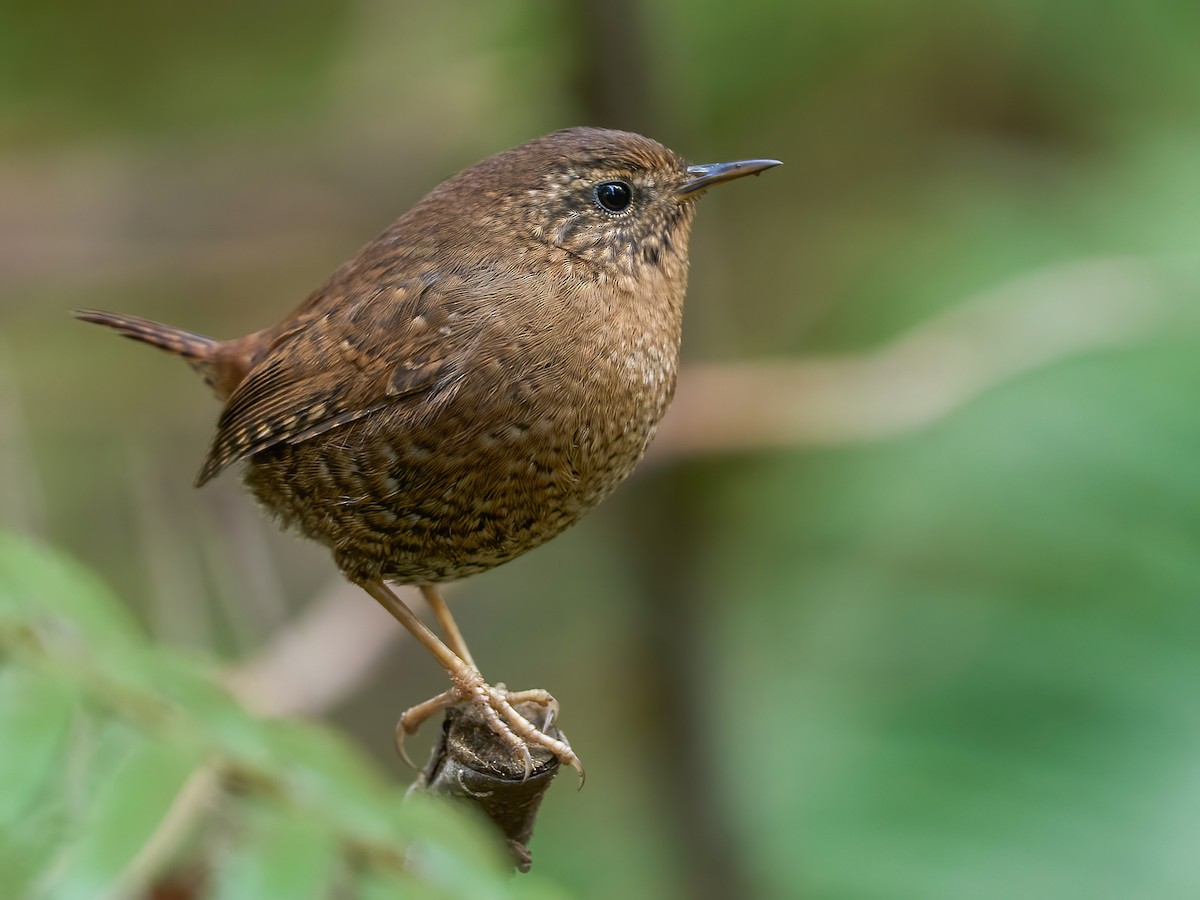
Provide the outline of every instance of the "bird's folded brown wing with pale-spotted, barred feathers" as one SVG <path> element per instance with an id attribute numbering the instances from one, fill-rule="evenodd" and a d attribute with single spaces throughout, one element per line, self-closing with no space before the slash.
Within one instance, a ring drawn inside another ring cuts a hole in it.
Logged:
<path id="1" fill-rule="evenodd" d="M 478 330 L 456 314 L 462 301 L 461 283 L 426 275 L 366 301 L 306 310 L 230 395 L 197 486 L 276 444 L 451 384 Z"/>

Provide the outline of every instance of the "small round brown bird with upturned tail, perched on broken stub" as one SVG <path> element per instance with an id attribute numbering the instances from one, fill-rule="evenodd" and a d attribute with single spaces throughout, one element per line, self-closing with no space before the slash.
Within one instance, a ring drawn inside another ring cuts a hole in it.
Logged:
<path id="1" fill-rule="evenodd" d="M 632 470 L 674 391 L 695 200 L 778 164 L 568 128 L 436 187 L 272 328 L 77 316 L 186 359 L 224 401 L 197 485 L 246 463 L 262 504 L 449 672 L 397 734 L 467 701 L 527 772 L 533 743 L 582 774 L 514 709 L 552 716 L 553 697 L 486 683 L 436 586 L 550 540 Z M 388 582 L 420 587 L 445 643 Z"/>

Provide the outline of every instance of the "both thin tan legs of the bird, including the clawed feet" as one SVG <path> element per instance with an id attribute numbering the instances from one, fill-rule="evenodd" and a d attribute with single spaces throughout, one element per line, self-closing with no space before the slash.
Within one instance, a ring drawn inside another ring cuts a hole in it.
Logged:
<path id="1" fill-rule="evenodd" d="M 515 702 L 521 703 L 527 701 L 546 706 L 548 715 L 544 727 L 547 727 L 553 719 L 553 712 L 558 708 L 554 698 L 547 691 L 511 692 L 504 685 L 493 686 L 488 684 L 474 665 L 464 661 L 462 656 L 451 650 L 437 635 L 430 631 L 425 626 L 425 623 L 416 617 L 416 613 L 408 608 L 408 605 L 396 596 L 396 593 L 380 578 L 364 581 L 361 584 L 371 596 L 396 617 L 400 624 L 408 629 L 425 649 L 433 654 L 438 664 L 449 673 L 450 684 L 452 685 L 450 690 L 424 703 L 419 703 L 400 716 L 400 721 L 396 724 L 396 740 L 401 754 L 403 754 L 404 734 L 414 733 L 421 726 L 421 722 L 436 715 L 439 710 L 452 707 L 455 703 L 468 702 L 479 707 L 492 731 L 499 734 L 506 744 L 523 757 L 526 778 L 533 772 L 533 757 L 529 755 L 529 744 L 545 748 L 559 762 L 570 766 L 580 773 L 581 779 L 583 778 L 583 766 L 570 745 L 565 740 L 550 737 L 514 708 Z M 437 596 L 436 590 L 432 588 L 430 590 Z M 440 602 L 442 599 L 439 596 L 436 601 L 431 602 L 434 612 L 437 612 L 437 604 Z M 449 617 L 449 612 L 446 617 L 452 624 L 454 619 Z M 440 619 L 442 617 L 439 616 L 438 618 Z M 462 646 L 462 635 L 458 634 L 457 626 L 449 635 L 451 635 L 451 642 Z M 457 636 L 457 640 L 455 636 Z"/>

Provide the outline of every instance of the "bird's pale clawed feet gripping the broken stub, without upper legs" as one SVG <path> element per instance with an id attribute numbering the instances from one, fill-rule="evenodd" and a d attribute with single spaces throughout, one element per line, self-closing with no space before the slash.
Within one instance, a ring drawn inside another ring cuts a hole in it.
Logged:
<path id="1" fill-rule="evenodd" d="M 425 722 L 426 719 L 437 715 L 443 709 L 457 703 L 470 703 L 479 708 L 484 719 L 500 739 L 511 746 L 524 763 L 524 776 L 528 779 L 533 774 L 533 756 L 529 754 L 530 746 L 540 746 L 553 755 L 564 766 L 570 766 L 580 773 L 580 785 L 583 784 L 583 766 L 580 757 L 571 750 L 571 745 L 559 738 L 552 738 L 546 730 L 553 724 L 558 715 L 558 701 L 550 691 L 535 688 L 524 691 L 510 691 L 503 684 L 491 685 L 484 680 L 479 670 L 463 665 L 456 672 L 451 672 L 450 678 L 454 686 L 431 697 L 424 703 L 406 709 L 396 722 L 396 749 L 400 755 L 412 764 L 408 754 L 404 751 L 404 737 L 413 734 Z M 542 707 L 545 715 L 541 727 L 530 722 L 517 712 L 520 703 L 534 703 Z M 415 767 L 414 767 L 415 768 Z"/>

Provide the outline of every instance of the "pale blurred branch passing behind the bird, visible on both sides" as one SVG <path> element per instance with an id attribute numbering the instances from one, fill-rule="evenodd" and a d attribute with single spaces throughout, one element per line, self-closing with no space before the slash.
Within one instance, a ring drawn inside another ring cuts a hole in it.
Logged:
<path id="1" fill-rule="evenodd" d="M 648 462 L 911 432 L 1006 380 L 1163 326 L 1160 293 L 1135 260 L 1076 262 L 968 299 L 875 353 L 691 366 Z M 316 714 L 354 694 L 403 634 L 360 594 L 331 586 L 228 684 L 268 714 Z"/>

